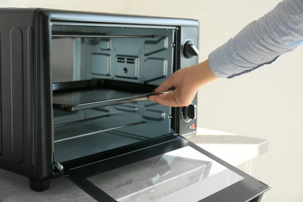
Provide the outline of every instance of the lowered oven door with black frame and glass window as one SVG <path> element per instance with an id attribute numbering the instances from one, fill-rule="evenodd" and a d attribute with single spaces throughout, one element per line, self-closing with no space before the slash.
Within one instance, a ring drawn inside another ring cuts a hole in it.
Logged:
<path id="1" fill-rule="evenodd" d="M 270 189 L 179 135 L 63 166 L 62 175 L 104 202 L 257 202 Z"/>

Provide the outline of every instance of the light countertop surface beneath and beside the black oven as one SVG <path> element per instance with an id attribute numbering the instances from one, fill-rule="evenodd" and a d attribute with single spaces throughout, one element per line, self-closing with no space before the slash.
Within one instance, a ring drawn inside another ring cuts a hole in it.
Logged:
<path id="1" fill-rule="evenodd" d="M 205 128 L 188 138 L 227 163 L 238 166 L 249 162 L 268 150 L 268 141 Z M 187 155 L 188 153 L 185 152 Z M 182 152 L 181 155 L 186 155 Z M 220 167 L 218 167 L 220 168 Z M 214 169 L 214 168 L 213 168 Z M 212 172 L 217 171 L 217 169 Z M 222 177 L 219 179 L 222 181 Z M 79 187 L 65 178 L 52 180 L 44 192 L 29 189 L 26 177 L 0 169 L 0 201 L 95 201 Z"/>

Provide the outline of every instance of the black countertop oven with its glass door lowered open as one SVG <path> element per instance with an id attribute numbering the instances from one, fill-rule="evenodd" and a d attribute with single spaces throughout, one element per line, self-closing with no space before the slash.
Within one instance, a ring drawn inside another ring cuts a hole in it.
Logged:
<path id="1" fill-rule="evenodd" d="M 97 201 L 256 202 L 270 189 L 187 140 L 196 97 L 147 100 L 198 63 L 198 21 L 32 8 L 0 19 L 0 168 L 32 190 L 57 176 Z"/>

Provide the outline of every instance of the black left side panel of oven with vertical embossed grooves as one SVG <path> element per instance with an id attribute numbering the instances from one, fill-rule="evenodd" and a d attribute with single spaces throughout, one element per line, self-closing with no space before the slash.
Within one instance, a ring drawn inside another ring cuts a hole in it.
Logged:
<path id="1" fill-rule="evenodd" d="M 0 168 L 35 176 L 34 9 L 0 9 Z"/>

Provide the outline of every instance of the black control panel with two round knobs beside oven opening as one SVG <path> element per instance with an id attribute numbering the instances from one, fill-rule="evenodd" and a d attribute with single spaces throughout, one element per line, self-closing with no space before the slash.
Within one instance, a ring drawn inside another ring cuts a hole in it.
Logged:
<path id="1" fill-rule="evenodd" d="M 184 26 L 180 28 L 180 68 L 198 63 L 199 28 Z M 193 135 L 197 127 L 197 95 L 192 103 L 179 109 L 179 133 L 182 136 Z"/>

